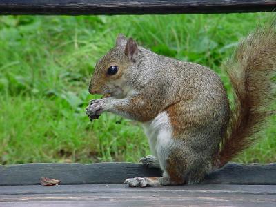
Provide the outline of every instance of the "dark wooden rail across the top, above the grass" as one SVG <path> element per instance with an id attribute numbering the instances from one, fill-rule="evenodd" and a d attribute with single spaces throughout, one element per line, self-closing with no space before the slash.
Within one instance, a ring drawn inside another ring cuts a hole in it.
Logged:
<path id="1" fill-rule="evenodd" d="M 271 12 L 271 0 L 1 0 L 0 14 L 201 14 Z"/>

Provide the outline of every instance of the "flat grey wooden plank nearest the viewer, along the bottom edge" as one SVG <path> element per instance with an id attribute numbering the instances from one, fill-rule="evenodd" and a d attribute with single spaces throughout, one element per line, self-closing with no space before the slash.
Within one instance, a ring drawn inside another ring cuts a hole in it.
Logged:
<path id="1" fill-rule="evenodd" d="M 275 206 L 275 195 L 274 185 L 0 186 L 0 206 Z"/>

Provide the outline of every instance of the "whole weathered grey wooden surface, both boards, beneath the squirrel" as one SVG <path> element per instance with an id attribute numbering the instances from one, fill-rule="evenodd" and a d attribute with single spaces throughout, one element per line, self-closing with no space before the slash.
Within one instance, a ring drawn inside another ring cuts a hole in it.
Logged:
<path id="1" fill-rule="evenodd" d="M 61 185 L 40 186 L 41 176 Z M 131 163 L 0 166 L 0 206 L 276 206 L 276 164 L 227 164 L 199 185 L 123 184 L 137 176 L 161 172 Z"/>

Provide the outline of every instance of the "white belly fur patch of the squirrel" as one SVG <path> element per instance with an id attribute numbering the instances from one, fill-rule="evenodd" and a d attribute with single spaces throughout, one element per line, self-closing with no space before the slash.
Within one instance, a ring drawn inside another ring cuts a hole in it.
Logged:
<path id="1" fill-rule="evenodd" d="M 167 112 L 161 112 L 152 121 L 143 124 L 152 154 L 159 159 L 161 168 L 166 160 L 168 146 L 172 144 L 172 126 Z M 164 168 L 163 168 L 164 169 Z"/>

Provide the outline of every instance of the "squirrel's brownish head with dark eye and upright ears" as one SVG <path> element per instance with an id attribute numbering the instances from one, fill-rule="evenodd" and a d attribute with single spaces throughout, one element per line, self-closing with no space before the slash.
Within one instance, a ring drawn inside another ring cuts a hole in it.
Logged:
<path id="1" fill-rule="evenodd" d="M 133 77 L 133 67 L 137 62 L 139 48 L 134 39 L 126 39 L 119 34 L 116 45 L 96 64 L 90 81 L 90 94 L 124 97 L 128 81 Z"/>

